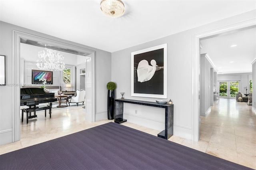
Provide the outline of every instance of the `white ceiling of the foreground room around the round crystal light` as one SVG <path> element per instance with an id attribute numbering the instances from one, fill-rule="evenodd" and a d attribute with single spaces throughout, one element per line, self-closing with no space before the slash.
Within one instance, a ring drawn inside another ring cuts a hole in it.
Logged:
<path id="1" fill-rule="evenodd" d="M 109 52 L 256 9 L 255 0 L 123 0 L 108 18 L 101 0 L 0 0 L 0 20 Z"/>

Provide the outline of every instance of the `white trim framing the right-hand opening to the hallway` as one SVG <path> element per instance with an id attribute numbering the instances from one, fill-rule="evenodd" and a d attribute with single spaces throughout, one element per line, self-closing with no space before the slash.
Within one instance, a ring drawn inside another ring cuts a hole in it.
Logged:
<path id="1" fill-rule="evenodd" d="M 217 34 L 222 34 L 232 30 L 239 30 L 242 28 L 255 26 L 256 19 L 240 22 L 230 26 L 225 26 L 215 30 L 210 30 L 208 32 L 202 32 L 199 34 L 194 34 L 193 36 L 193 53 L 192 53 L 192 140 L 199 140 L 199 58 L 200 58 L 200 39 L 208 38 Z"/>

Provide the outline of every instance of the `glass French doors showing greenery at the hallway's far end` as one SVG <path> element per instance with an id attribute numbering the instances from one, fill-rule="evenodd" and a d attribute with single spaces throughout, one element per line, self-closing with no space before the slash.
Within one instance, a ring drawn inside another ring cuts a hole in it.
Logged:
<path id="1" fill-rule="evenodd" d="M 235 99 L 240 81 L 218 81 L 218 94 L 223 99 Z"/>

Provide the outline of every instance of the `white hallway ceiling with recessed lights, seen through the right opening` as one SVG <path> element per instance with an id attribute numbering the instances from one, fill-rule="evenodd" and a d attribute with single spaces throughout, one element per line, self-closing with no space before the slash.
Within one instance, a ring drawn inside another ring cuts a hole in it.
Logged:
<path id="1" fill-rule="evenodd" d="M 256 57 L 256 28 L 200 41 L 201 54 L 208 53 L 217 73 L 251 73 Z M 231 47 L 236 45 L 235 47 Z"/>

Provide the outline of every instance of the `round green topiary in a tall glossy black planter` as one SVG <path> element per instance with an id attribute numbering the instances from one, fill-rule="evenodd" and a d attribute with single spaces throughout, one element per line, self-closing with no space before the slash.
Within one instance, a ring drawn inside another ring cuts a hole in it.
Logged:
<path id="1" fill-rule="evenodd" d="M 114 102 L 116 83 L 110 81 L 107 83 L 108 89 L 108 120 L 114 119 Z"/>

